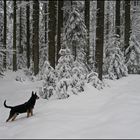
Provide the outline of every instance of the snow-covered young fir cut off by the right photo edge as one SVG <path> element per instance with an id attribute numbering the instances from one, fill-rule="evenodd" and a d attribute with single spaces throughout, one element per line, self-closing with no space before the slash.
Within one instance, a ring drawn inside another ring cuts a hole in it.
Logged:
<path id="1" fill-rule="evenodd" d="M 129 73 L 140 74 L 140 44 L 135 35 L 130 38 L 130 46 L 125 51 Z"/>

